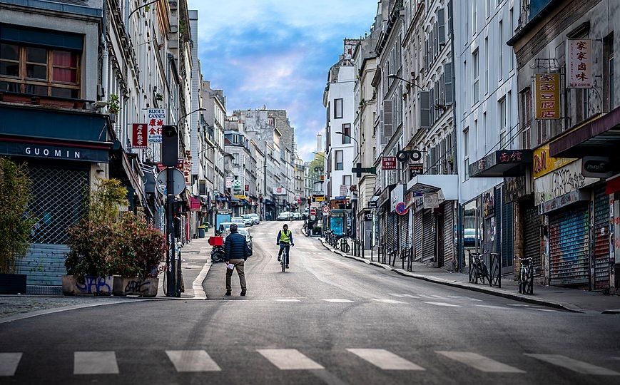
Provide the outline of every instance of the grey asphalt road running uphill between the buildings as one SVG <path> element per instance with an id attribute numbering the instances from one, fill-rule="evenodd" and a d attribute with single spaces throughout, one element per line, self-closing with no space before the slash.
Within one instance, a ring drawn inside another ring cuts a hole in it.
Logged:
<path id="1" fill-rule="evenodd" d="M 620 316 L 574 314 L 344 259 L 294 222 L 253 227 L 248 295 L 152 300 L 0 324 L 1 384 L 619 384 Z M 4 375 L 4 376 L 3 376 Z"/>

